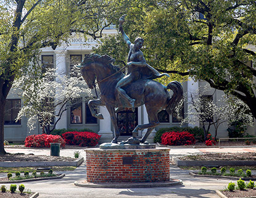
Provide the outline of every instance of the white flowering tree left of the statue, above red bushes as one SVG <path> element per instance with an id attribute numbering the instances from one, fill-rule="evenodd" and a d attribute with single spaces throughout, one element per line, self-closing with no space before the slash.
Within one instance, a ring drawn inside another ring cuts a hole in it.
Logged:
<path id="1" fill-rule="evenodd" d="M 74 105 L 73 101 L 83 96 L 93 96 L 79 72 L 76 72 L 78 76 L 68 76 L 56 70 L 47 68 L 45 73 L 39 74 L 40 78 L 31 71 L 14 83 L 14 88 L 22 89 L 24 102 L 17 120 L 27 117 L 30 130 L 35 129 L 39 122 L 43 133 L 51 133 L 63 113 Z"/>

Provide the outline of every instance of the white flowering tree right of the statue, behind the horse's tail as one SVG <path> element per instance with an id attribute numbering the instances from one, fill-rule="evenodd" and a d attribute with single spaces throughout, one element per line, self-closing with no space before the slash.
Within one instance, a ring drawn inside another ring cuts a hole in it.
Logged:
<path id="1" fill-rule="evenodd" d="M 197 93 L 190 93 L 190 97 L 188 97 L 188 112 L 181 124 L 196 124 L 199 122 L 204 129 L 205 140 L 212 126 L 215 129 L 216 139 L 218 128 L 224 122 L 231 124 L 242 120 L 246 126 L 253 124 L 252 113 L 250 113 L 249 107 L 241 99 L 224 94 L 217 102 L 214 102 L 212 99 L 214 93 L 212 95 L 205 94 L 207 89 L 209 89 L 209 86 L 205 86 L 200 91 L 198 90 Z M 176 110 L 179 112 L 180 107 Z"/>

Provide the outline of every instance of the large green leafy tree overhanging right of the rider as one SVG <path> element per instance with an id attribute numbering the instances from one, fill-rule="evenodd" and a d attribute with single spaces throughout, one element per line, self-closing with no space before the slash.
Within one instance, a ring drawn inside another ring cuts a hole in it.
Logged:
<path id="1" fill-rule="evenodd" d="M 127 12 L 123 27 L 131 38 L 144 38 L 142 52 L 150 65 L 160 72 L 205 80 L 241 99 L 256 118 L 256 70 L 249 64 L 256 57 L 255 1 L 167 0 L 139 5 Z"/>

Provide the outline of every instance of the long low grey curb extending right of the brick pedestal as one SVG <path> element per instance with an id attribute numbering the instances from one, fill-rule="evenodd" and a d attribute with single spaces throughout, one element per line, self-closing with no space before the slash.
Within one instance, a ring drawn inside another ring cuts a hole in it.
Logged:
<path id="1" fill-rule="evenodd" d="M 226 160 L 219 160 L 219 161 L 201 161 L 201 160 L 194 160 L 194 161 L 183 161 L 178 159 L 177 157 L 172 157 L 171 159 L 178 167 L 207 167 L 207 166 L 252 166 L 256 165 L 256 161 L 226 161 Z"/>

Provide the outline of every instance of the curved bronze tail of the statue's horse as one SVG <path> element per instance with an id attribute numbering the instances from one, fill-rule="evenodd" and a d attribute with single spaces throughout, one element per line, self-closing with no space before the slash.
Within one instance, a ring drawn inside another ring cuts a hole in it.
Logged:
<path id="1" fill-rule="evenodd" d="M 175 112 L 176 105 L 178 105 L 183 98 L 183 87 L 178 81 L 171 81 L 167 85 L 167 89 L 171 89 L 173 91 L 173 96 L 168 100 L 168 104 L 165 109 L 169 114 L 171 114 Z"/>

